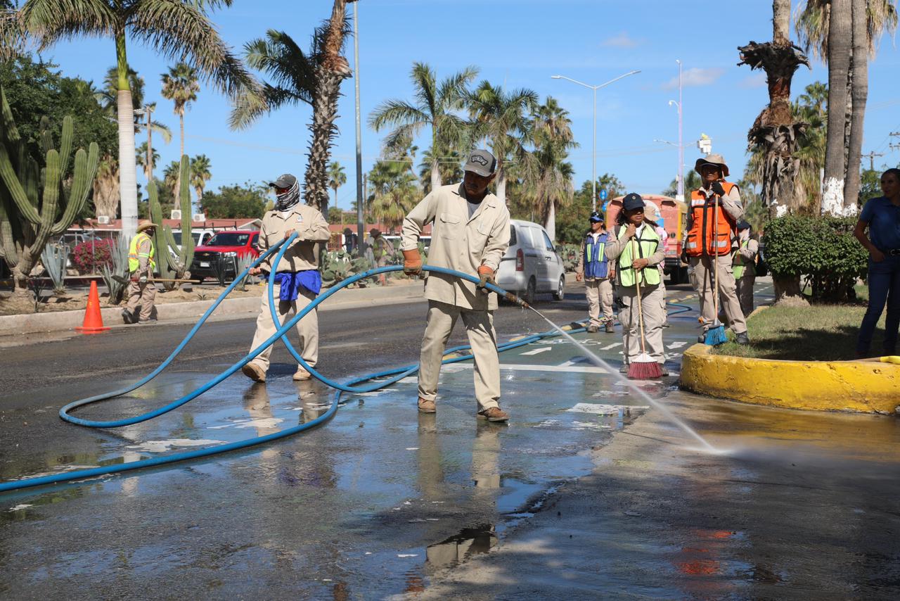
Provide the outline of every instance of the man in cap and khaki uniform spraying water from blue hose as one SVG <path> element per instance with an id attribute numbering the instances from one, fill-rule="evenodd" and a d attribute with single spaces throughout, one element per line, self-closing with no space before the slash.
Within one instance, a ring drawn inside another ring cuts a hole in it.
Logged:
<path id="1" fill-rule="evenodd" d="M 403 220 L 403 267 L 419 273 L 419 236 L 433 223 L 428 265 L 478 275 L 481 283 L 429 273 L 425 285 L 428 321 L 419 362 L 419 411 L 435 413 L 437 379 L 446 341 L 456 320 L 463 318 L 475 360 L 475 399 L 478 415 L 490 422 L 505 422 L 500 409 L 500 358 L 493 314 L 497 295 L 484 284 L 494 281 L 500 259 L 509 247 L 509 210 L 488 192 L 497 160 L 487 150 L 473 150 L 465 164 L 462 184 L 438 187 Z M 480 289 L 481 288 L 481 289 Z"/>

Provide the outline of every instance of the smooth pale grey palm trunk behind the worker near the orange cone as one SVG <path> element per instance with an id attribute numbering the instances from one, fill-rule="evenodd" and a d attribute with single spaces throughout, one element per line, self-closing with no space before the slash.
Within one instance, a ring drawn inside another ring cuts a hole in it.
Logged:
<path id="1" fill-rule="evenodd" d="M 119 91 L 116 110 L 119 120 L 119 191 L 121 193 L 121 236 L 130 240 L 138 232 L 138 168 L 134 154 L 134 105 L 128 84 L 125 32 L 116 34 Z"/>

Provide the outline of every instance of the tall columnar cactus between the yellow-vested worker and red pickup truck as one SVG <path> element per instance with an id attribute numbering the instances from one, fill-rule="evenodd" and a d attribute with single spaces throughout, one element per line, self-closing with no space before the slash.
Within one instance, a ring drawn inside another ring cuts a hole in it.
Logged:
<path id="1" fill-rule="evenodd" d="M 175 236 L 172 235 L 172 228 L 163 224 L 163 210 L 159 205 L 159 193 L 157 191 L 156 182 L 150 182 L 147 187 L 147 194 L 150 203 L 150 218 L 153 223 L 158 223 L 157 232 L 153 241 L 157 249 L 157 270 L 160 278 L 181 279 L 187 278 L 193 263 L 193 236 L 191 235 L 191 161 L 187 155 L 181 157 L 181 165 L 179 166 L 179 181 L 181 187 L 178 190 L 178 199 L 181 206 L 181 249 L 175 242 Z M 169 254 L 169 249 L 177 256 L 177 259 Z M 166 288 L 171 290 L 174 287 L 171 283 L 166 283 Z"/>

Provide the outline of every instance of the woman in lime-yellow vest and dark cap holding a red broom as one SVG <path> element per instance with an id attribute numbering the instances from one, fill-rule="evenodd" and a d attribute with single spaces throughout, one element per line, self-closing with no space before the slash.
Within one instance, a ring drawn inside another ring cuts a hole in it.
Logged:
<path id="1" fill-rule="evenodd" d="M 619 323 L 625 343 L 622 373 L 629 378 L 668 376 L 663 363 L 662 277 L 657 268 L 665 260 L 665 249 L 655 223 L 644 220 L 644 199 L 635 193 L 622 201 L 616 224 L 610 228 L 606 253 L 616 265 L 616 287 L 622 304 Z"/>

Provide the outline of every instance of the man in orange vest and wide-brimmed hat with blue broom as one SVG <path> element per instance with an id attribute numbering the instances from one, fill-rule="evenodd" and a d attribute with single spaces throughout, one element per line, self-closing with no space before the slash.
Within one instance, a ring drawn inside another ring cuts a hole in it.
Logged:
<path id="1" fill-rule="evenodd" d="M 694 170 L 700 174 L 703 185 L 690 195 L 682 252 L 688 257 L 692 271 L 691 284 L 700 298 L 703 333 L 698 341 L 704 341 L 707 330 L 716 321 L 715 286 L 718 288 L 719 308 L 725 311 L 727 321 L 737 335 L 736 341 L 749 344 L 747 322 L 737 298 L 732 272 L 734 229 L 743 215 L 741 194 L 737 186 L 725 181 L 728 166 L 721 155 L 711 154 L 706 159 L 697 159 Z M 718 263 L 718 281 L 714 260 Z"/>

